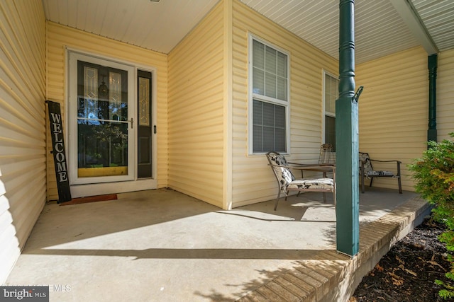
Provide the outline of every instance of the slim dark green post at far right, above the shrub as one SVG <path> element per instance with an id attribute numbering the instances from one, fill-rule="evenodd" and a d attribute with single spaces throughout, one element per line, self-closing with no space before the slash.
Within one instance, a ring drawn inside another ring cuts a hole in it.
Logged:
<path id="1" fill-rule="evenodd" d="M 427 141 L 437 141 L 437 54 L 427 59 L 428 67 L 428 130 Z"/>

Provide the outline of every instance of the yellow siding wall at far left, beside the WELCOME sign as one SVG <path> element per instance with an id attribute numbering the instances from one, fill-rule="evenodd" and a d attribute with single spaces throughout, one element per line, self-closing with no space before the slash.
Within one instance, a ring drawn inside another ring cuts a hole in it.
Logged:
<path id="1" fill-rule="evenodd" d="M 0 1 L 0 283 L 46 196 L 45 16 L 40 1 Z"/>

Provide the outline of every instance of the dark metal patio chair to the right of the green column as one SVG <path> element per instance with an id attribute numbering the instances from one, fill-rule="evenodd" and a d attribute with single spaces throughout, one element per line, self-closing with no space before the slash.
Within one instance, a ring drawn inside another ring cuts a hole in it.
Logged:
<path id="1" fill-rule="evenodd" d="M 374 168 L 372 168 L 372 161 L 377 163 L 397 163 L 397 173 L 385 170 L 374 170 Z M 402 194 L 402 183 L 400 178 L 401 163 L 402 161 L 379 161 L 370 158 L 369 153 L 360 152 L 361 192 L 364 193 L 364 178 L 370 179 L 370 187 L 372 187 L 372 180 L 374 180 L 374 178 L 397 178 L 399 194 Z"/>

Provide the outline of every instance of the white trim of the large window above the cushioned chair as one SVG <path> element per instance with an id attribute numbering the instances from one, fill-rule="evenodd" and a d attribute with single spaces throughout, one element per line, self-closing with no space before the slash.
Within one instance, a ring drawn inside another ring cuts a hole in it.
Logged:
<path id="1" fill-rule="evenodd" d="M 269 47 L 282 52 L 287 55 L 287 102 L 284 100 L 278 100 L 275 98 L 270 98 L 266 95 L 260 95 L 253 93 L 253 40 L 267 45 Z M 265 152 L 254 152 L 254 141 L 253 141 L 253 102 L 254 99 L 260 100 L 262 102 L 283 105 L 285 107 L 285 144 L 286 151 L 281 152 L 282 154 L 290 154 L 290 53 L 287 50 L 283 50 L 281 47 L 267 42 L 266 40 L 261 39 L 260 37 L 254 35 L 253 33 L 248 33 L 248 155 L 263 155 Z"/>

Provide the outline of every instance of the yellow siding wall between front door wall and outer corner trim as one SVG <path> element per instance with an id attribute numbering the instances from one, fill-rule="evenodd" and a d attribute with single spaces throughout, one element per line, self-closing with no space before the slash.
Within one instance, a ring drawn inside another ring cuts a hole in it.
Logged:
<path id="1" fill-rule="evenodd" d="M 223 5 L 168 56 L 169 187 L 223 207 Z"/>

